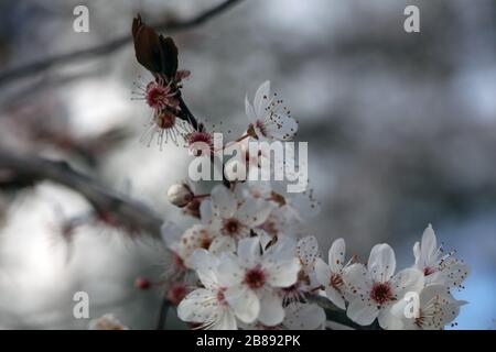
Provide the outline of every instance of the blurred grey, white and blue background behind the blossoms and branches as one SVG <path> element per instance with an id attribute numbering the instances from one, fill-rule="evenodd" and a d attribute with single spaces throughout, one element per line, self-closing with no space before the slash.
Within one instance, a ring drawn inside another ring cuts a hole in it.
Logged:
<path id="1" fill-rule="evenodd" d="M 139 142 L 150 109 L 131 90 L 150 75 L 131 42 L 8 74 L 130 36 L 137 12 L 161 23 L 218 3 L 1 1 L 0 147 L 66 161 L 186 226 L 166 200 L 168 187 L 186 176 L 186 153 Z M 73 31 L 78 4 L 89 9 L 89 33 Z M 408 4 L 420 9 L 420 33 L 403 31 Z M 298 140 L 309 142 L 322 202 L 309 234 L 323 252 L 343 237 L 348 253 L 366 261 L 387 242 L 406 267 L 432 223 L 471 266 L 455 293 L 470 301 L 456 329 L 495 328 L 496 1 L 245 0 L 173 36 L 180 67 L 192 72 L 183 97 L 207 125 L 223 121 L 233 136 L 242 133 L 245 95 L 263 80 L 285 99 L 300 121 Z M 160 278 L 163 246 L 105 221 L 65 231 L 88 201 L 15 176 L 0 168 L 0 328 L 86 329 L 88 319 L 73 317 L 77 290 L 89 294 L 90 318 L 111 312 L 132 329 L 153 328 L 160 292 L 139 290 L 134 279 Z"/>

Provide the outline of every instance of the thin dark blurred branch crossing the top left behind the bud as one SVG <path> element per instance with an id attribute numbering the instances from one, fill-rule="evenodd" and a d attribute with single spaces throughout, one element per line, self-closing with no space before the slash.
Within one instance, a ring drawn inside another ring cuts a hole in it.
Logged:
<path id="1" fill-rule="evenodd" d="M 177 32 L 185 31 L 192 28 L 196 28 L 212 20 L 216 15 L 228 10 L 233 6 L 241 2 L 242 0 L 226 0 L 213 7 L 212 9 L 202 12 L 201 14 L 184 21 L 168 21 L 166 23 L 157 23 L 153 28 L 157 31 Z M 65 65 L 73 62 L 78 62 L 91 57 L 98 57 L 116 52 L 125 45 L 131 43 L 132 36 L 125 34 L 117 38 L 114 38 L 107 43 L 99 44 L 90 48 L 78 50 L 75 52 L 60 54 L 52 57 L 46 57 L 34 63 L 26 64 L 24 66 L 14 67 L 12 69 L 0 73 L 0 86 L 4 86 L 10 81 L 36 75 L 45 69 L 50 69 L 55 65 Z"/>

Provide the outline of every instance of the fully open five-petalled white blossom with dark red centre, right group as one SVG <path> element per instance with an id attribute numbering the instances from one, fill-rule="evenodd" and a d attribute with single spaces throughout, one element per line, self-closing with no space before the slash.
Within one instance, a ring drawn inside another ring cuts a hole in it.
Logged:
<path id="1" fill-rule="evenodd" d="M 370 324 L 378 318 L 381 327 L 387 327 L 391 306 L 407 292 L 418 292 L 423 287 L 422 272 L 406 268 L 395 275 L 395 252 L 388 244 L 376 244 L 368 258 L 367 267 L 352 264 L 344 271 L 344 282 L 354 295 L 347 316 L 362 326 Z"/>

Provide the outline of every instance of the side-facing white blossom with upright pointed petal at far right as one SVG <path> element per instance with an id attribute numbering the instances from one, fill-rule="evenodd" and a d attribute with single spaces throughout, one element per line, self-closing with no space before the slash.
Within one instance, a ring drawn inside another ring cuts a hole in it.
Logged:
<path id="1" fill-rule="evenodd" d="M 414 267 L 422 271 L 425 284 L 443 284 L 448 287 L 462 288 L 462 283 L 468 275 L 468 267 L 452 256 L 444 254 L 438 246 L 434 230 L 429 226 L 423 231 L 421 243 L 413 245 Z"/>

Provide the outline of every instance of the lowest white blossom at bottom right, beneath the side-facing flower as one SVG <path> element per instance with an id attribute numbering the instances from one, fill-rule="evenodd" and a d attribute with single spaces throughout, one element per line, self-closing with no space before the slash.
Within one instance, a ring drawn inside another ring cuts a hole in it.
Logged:
<path id="1" fill-rule="evenodd" d="M 460 307 L 465 305 L 456 300 L 444 285 L 429 285 L 419 294 L 419 310 L 406 315 L 408 301 L 401 299 L 391 308 L 390 330 L 441 330 L 459 315 Z"/>

